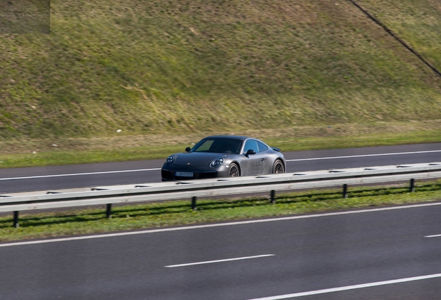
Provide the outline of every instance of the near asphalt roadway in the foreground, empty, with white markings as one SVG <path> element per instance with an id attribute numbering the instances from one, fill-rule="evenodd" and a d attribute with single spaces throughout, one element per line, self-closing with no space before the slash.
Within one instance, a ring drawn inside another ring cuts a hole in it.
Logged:
<path id="1" fill-rule="evenodd" d="M 441 202 L 0 243 L 0 299 L 440 299 Z"/>

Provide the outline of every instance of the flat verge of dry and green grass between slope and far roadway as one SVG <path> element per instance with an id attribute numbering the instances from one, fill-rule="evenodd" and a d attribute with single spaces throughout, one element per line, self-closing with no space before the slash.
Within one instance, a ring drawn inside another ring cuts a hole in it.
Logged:
<path id="1" fill-rule="evenodd" d="M 426 128 L 424 130 L 424 128 Z M 205 135 L 121 136 L 118 138 L 0 141 L 0 169 L 81 163 L 165 159 L 184 151 Z M 337 124 L 299 126 L 279 130 L 244 131 L 236 134 L 261 138 L 282 151 L 341 149 L 441 142 L 441 122 Z M 56 144 L 57 146 L 52 146 Z"/>

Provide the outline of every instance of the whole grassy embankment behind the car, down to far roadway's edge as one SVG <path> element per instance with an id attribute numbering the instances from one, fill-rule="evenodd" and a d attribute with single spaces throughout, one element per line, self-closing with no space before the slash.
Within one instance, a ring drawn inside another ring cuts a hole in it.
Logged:
<path id="1" fill-rule="evenodd" d="M 441 68 L 439 2 L 386 2 L 359 1 Z M 441 140 L 440 78 L 349 1 L 51 9 L 50 35 L 0 37 L 0 167 L 164 158 L 211 133 L 286 151 Z"/>

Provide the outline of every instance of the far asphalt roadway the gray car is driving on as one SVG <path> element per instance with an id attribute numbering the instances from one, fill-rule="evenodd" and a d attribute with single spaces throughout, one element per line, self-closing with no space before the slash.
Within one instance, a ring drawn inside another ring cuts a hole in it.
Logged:
<path id="1" fill-rule="evenodd" d="M 283 150 L 283 149 L 282 149 Z M 441 143 L 284 152 L 287 172 L 441 161 Z M 171 153 L 164 153 L 164 158 Z M 161 181 L 164 160 L 0 169 L 0 194 Z"/>

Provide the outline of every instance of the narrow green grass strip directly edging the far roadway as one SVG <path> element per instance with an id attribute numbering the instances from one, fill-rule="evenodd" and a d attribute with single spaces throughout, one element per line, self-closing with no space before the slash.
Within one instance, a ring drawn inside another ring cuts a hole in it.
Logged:
<path id="1" fill-rule="evenodd" d="M 324 131 L 333 131 L 333 128 L 322 128 Z M 337 128 L 338 131 L 338 128 Z M 329 133 L 328 133 L 329 134 Z M 285 151 L 340 149 L 356 147 L 387 146 L 394 144 L 420 144 L 426 142 L 440 142 L 440 131 L 415 131 L 410 133 L 377 133 L 375 135 L 349 135 L 297 138 L 283 135 L 281 138 L 265 138 L 265 142 L 272 147 L 279 147 Z M 197 140 L 194 140 L 197 142 Z M 111 143 L 112 144 L 112 143 Z M 9 153 L 0 154 L 0 169 L 11 167 L 43 167 L 49 165 L 74 165 L 82 163 L 107 163 L 128 160 L 165 159 L 171 153 L 182 152 L 191 143 L 188 142 L 125 148 L 105 148 L 95 150 L 66 150 L 63 144 L 61 149 L 35 151 L 36 153 Z"/>

